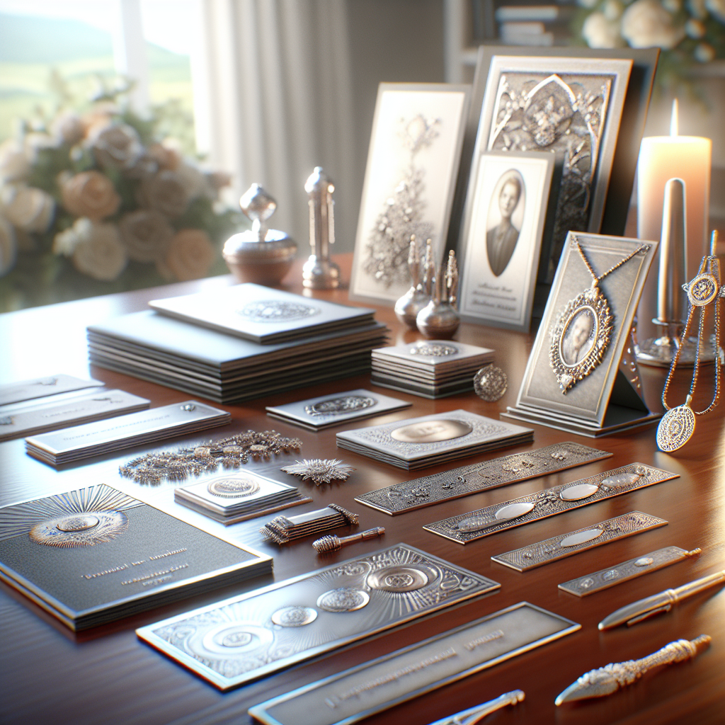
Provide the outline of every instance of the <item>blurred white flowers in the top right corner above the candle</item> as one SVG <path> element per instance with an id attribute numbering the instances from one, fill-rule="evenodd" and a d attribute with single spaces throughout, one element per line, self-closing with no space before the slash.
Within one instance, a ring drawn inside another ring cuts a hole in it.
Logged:
<path id="1" fill-rule="evenodd" d="M 590 48 L 660 48 L 658 83 L 725 58 L 725 0 L 578 0 L 573 30 Z"/>

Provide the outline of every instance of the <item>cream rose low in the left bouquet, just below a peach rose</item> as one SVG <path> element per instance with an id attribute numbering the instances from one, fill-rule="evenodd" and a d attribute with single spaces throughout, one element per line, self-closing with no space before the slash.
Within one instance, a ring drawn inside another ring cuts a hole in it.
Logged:
<path id="1" fill-rule="evenodd" d="M 75 220 L 72 228 L 56 235 L 54 250 L 62 246 L 72 247 L 73 266 L 79 272 L 104 282 L 117 278 L 128 263 L 128 255 L 114 224 L 81 217 Z"/>

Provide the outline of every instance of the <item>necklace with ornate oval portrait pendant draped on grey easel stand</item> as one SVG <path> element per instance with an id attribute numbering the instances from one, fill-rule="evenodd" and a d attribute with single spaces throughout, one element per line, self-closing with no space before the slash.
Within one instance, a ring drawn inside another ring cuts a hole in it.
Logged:
<path id="1" fill-rule="evenodd" d="M 639 252 L 650 249 L 649 244 L 640 244 L 604 274 L 597 276 L 584 249 L 581 249 L 579 239 L 570 234 L 572 246 L 579 252 L 592 276 L 592 286 L 567 302 L 551 331 L 549 363 L 564 395 L 600 365 L 612 339 L 614 318 L 608 299 L 600 289 L 600 281 Z"/>

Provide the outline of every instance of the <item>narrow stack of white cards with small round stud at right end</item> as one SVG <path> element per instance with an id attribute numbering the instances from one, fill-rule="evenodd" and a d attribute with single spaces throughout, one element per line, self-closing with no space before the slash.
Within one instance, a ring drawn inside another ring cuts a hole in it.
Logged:
<path id="1" fill-rule="evenodd" d="M 83 423 L 53 433 L 25 439 L 25 450 L 44 463 L 70 461 L 129 448 L 138 444 L 225 426 L 231 415 L 225 410 L 186 400 L 163 407 L 119 415 L 109 421 Z"/>

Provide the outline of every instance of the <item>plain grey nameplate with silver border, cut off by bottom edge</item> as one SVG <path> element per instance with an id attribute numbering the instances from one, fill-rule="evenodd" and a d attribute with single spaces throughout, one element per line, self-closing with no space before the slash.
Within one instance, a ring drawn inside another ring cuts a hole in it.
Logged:
<path id="1" fill-rule="evenodd" d="M 492 667 L 581 625 L 528 602 L 249 708 L 265 725 L 354 723 Z"/>

